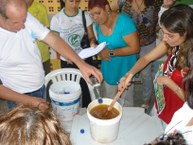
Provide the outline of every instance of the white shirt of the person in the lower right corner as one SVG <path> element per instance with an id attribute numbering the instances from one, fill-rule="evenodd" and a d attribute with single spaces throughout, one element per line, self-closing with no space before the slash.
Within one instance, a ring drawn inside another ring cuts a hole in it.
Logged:
<path id="1" fill-rule="evenodd" d="M 183 134 L 188 145 L 193 145 L 193 126 L 186 126 L 193 118 L 193 109 L 191 109 L 187 102 L 174 113 L 171 122 L 165 129 L 166 134 L 179 131 Z"/>

